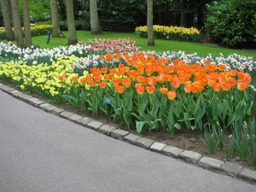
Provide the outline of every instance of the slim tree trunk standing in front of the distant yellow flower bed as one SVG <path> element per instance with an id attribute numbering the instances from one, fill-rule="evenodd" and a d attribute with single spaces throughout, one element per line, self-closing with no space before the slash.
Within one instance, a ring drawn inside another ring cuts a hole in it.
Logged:
<path id="1" fill-rule="evenodd" d="M 147 5 L 147 26 L 148 26 L 148 46 L 154 46 L 154 31 L 153 31 L 153 0 L 148 0 Z"/>

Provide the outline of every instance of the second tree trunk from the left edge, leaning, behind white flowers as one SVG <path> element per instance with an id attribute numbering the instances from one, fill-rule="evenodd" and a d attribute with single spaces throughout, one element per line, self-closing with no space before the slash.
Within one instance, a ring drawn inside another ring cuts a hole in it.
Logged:
<path id="1" fill-rule="evenodd" d="M 12 12 L 14 17 L 14 26 L 15 26 L 15 39 L 17 42 L 17 46 L 20 48 L 24 48 L 24 40 L 21 30 L 21 22 L 20 22 L 20 13 L 18 7 L 18 0 L 11 0 L 12 4 Z"/>

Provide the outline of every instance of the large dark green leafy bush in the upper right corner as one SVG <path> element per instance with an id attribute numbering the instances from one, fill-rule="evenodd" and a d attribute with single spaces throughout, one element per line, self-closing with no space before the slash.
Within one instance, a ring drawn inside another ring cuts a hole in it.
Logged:
<path id="1" fill-rule="evenodd" d="M 228 47 L 255 47 L 255 9 L 256 2 L 251 0 L 215 1 L 207 5 L 204 30 L 218 44 Z"/>

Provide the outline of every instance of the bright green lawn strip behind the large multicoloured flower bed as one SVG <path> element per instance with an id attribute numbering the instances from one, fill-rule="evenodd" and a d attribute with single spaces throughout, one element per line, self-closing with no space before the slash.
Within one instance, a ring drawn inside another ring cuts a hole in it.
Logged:
<path id="1" fill-rule="evenodd" d="M 67 46 L 68 32 L 63 32 L 65 38 L 50 38 L 49 44 L 46 44 L 46 36 L 38 36 L 32 38 L 33 44 L 39 44 L 41 49 L 58 47 L 60 45 Z M 155 46 L 147 46 L 146 38 L 139 38 L 133 32 L 103 32 L 103 35 L 91 36 L 89 31 L 77 31 L 78 40 L 93 38 L 132 38 L 137 42 L 137 46 L 142 50 L 154 50 L 156 52 L 163 51 L 185 51 L 186 54 L 197 53 L 201 56 L 212 54 L 218 56 L 220 53 L 224 55 L 238 54 L 245 56 L 253 56 L 255 59 L 256 51 L 242 49 L 227 49 L 212 44 L 195 44 L 189 42 L 169 41 L 166 39 L 155 39 Z"/>

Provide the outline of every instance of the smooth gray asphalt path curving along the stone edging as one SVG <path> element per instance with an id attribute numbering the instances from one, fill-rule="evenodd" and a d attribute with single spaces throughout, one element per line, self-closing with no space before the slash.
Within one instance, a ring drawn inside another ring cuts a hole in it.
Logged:
<path id="1" fill-rule="evenodd" d="M 0 191 L 246 191 L 256 185 L 138 148 L 0 90 Z"/>

